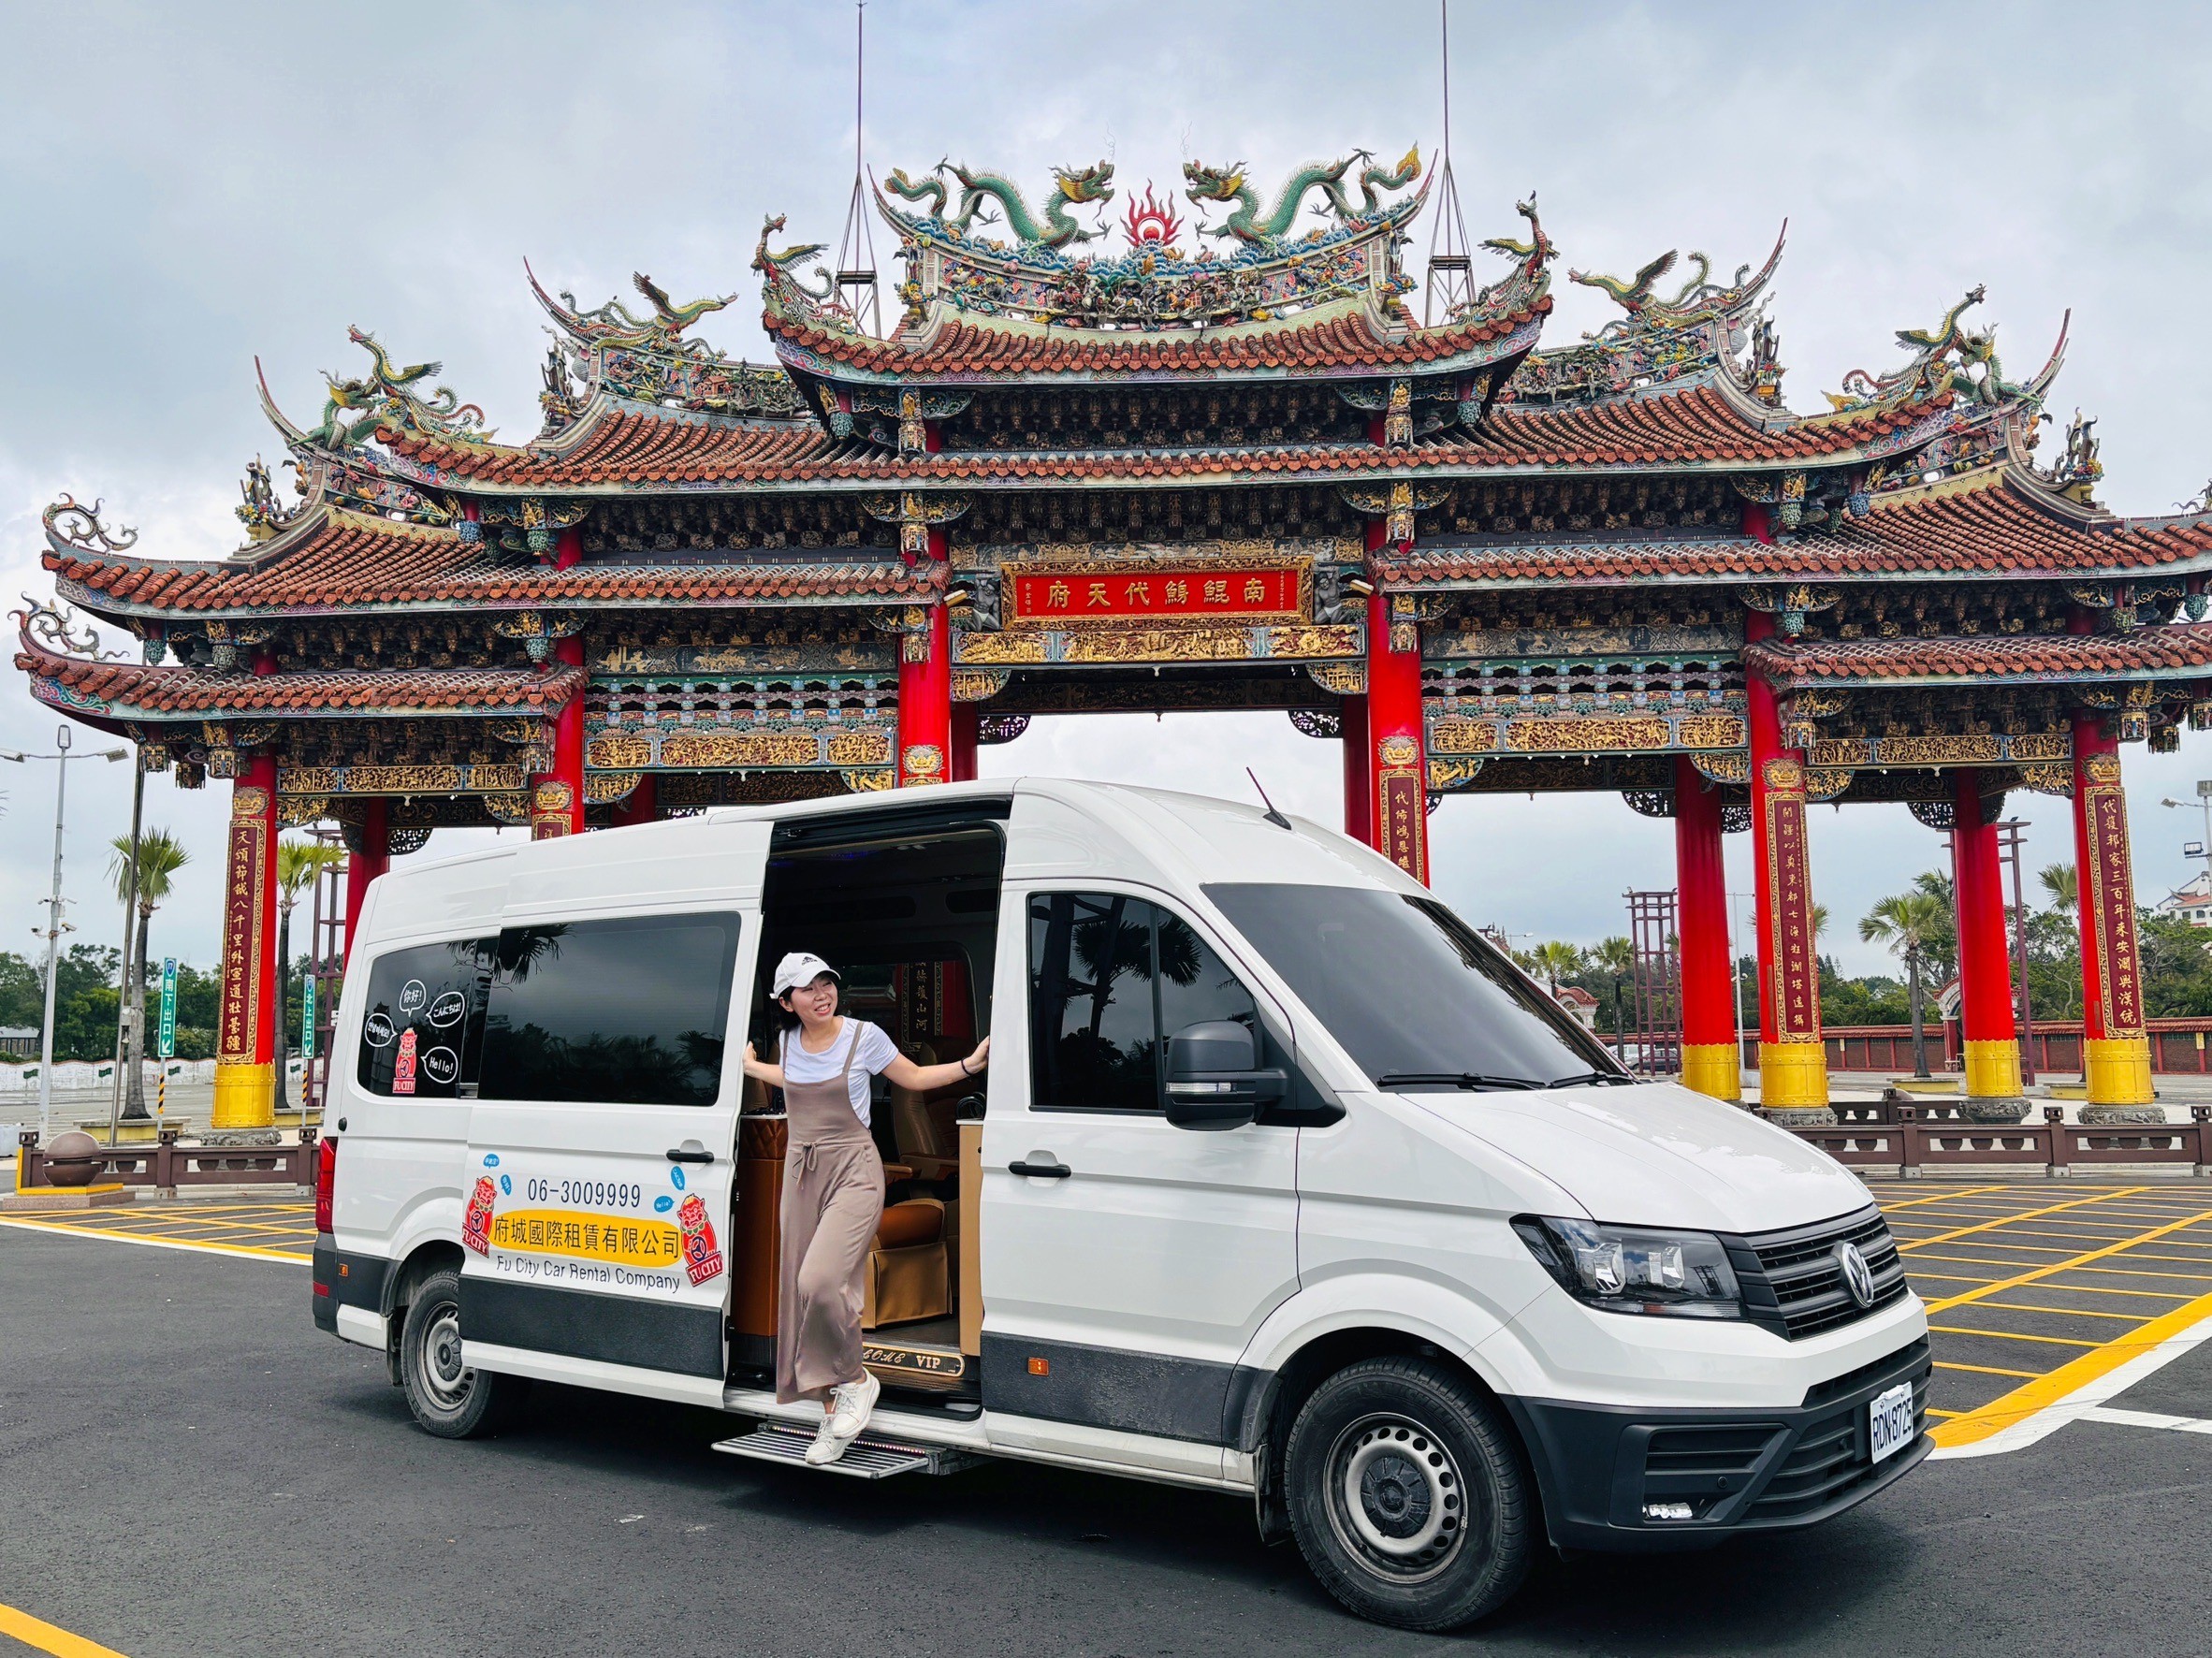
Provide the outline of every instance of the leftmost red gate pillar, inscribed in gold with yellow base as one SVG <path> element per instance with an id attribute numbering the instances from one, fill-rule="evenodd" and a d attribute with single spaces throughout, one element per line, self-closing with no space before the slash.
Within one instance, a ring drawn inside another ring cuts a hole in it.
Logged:
<path id="1" fill-rule="evenodd" d="M 276 756 L 263 749 L 230 785 L 210 1127 L 276 1121 Z"/>

